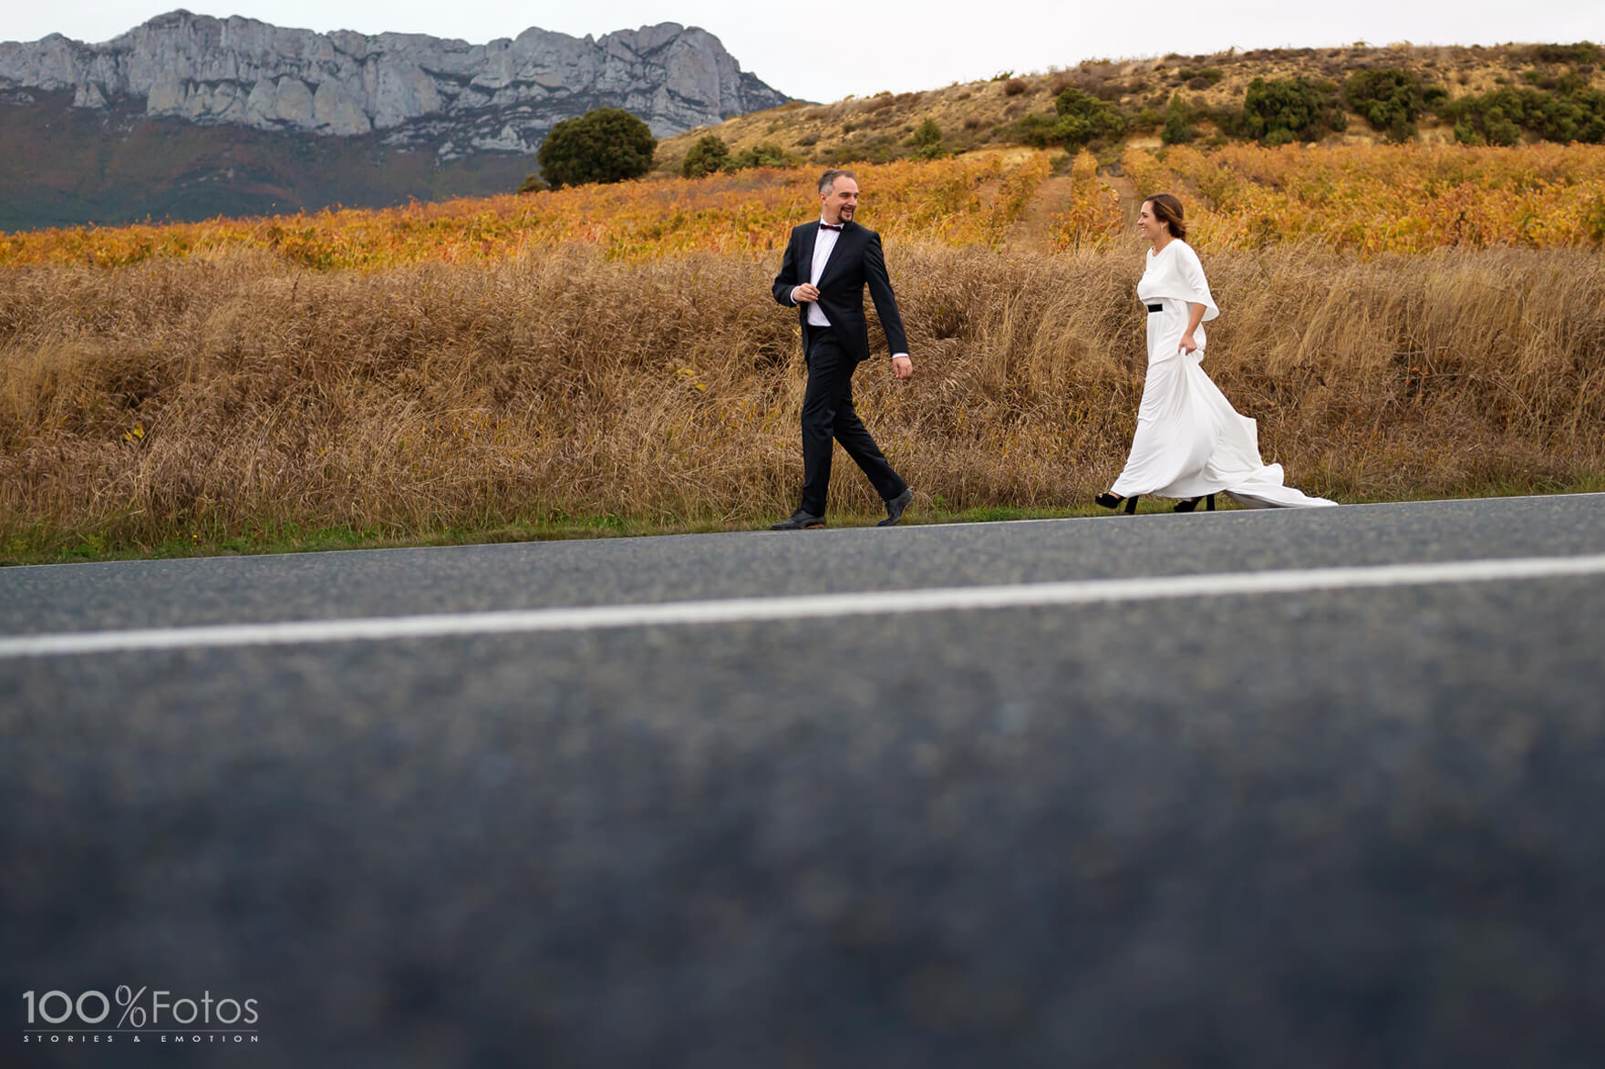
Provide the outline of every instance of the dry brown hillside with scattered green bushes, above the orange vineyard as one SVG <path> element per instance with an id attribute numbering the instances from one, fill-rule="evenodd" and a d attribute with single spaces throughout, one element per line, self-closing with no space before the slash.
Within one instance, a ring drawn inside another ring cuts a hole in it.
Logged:
<path id="1" fill-rule="evenodd" d="M 674 173 L 690 146 L 708 133 L 733 152 L 767 146 L 786 162 L 835 165 L 854 161 L 886 162 L 913 156 L 923 146 L 915 132 L 931 120 L 941 132 L 942 152 L 979 144 L 1024 140 L 1032 117 L 1056 117 L 1054 98 L 1066 88 L 1111 104 L 1125 117 L 1117 141 L 1157 146 L 1175 101 L 1201 141 L 1239 136 L 1241 114 L 1255 79 L 1306 79 L 1323 87 L 1342 109 L 1347 125 L 1326 140 L 1375 141 L 1388 132 L 1374 127 L 1347 101 L 1343 87 L 1364 71 L 1406 71 L 1422 87 L 1438 87 L 1446 100 L 1462 101 L 1510 90 L 1547 93 L 1581 85 L 1599 111 L 1605 93 L 1605 50 L 1578 45 L 1412 47 L 1364 43 L 1345 48 L 1273 48 L 1209 56 L 1168 55 L 1157 59 L 1088 61 L 1069 69 L 998 75 L 989 82 L 953 83 L 924 93 L 876 93 L 835 104 L 788 103 L 669 138 L 660 146 L 658 167 Z M 1480 130 L 1480 127 L 1478 127 Z M 1438 112 L 1420 116 L 1416 135 L 1424 141 L 1456 136 L 1454 122 Z M 1522 132 L 1523 140 L 1534 140 Z M 929 143 L 928 143 L 929 144 Z M 1096 144 L 1095 144 L 1096 146 Z"/>

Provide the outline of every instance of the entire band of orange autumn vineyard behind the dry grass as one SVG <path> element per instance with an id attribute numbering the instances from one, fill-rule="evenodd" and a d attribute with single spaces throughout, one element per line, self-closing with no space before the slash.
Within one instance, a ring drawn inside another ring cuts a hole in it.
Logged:
<path id="1" fill-rule="evenodd" d="M 1048 152 L 863 165 L 860 218 L 892 241 L 995 249 L 1050 169 Z M 1071 162 L 1066 201 L 1046 205 L 1054 247 L 1098 249 L 1127 231 L 1133 205 L 1098 172 L 1088 152 Z M 1205 252 L 1287 241 L 1363 255 L 1605 244 L 1605 146 L 1173 146 L 1127 149 L 1120 172 L 1138 193 L 1180 194 L 1191 241 Z M 766 169 L 384 210 L 0 234 L 0 265 L 119 266 L 262 249 L 310 268 L 387 268 L 502 260 L 571 242 L 624 262 L 764 252 L 815 210 L 814 177 Z"/>

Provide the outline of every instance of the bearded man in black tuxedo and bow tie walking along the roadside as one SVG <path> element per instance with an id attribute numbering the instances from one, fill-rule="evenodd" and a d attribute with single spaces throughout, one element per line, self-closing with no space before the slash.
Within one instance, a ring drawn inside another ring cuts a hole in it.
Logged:
<path id="1" fill-rule="evenodd" d="M 870 356 L 863 287 L 870 287 L 892 352 L 892 374 L 913 376 L 897 299 L 886 276 L 881 236 L 852 222 L 859 181 L 851 170 L 827 170 L 819 180 L 820 220 L 791 231 L 775 276 L 775 300 L 796 307 L 802 321 L 807 392 L 802 395 L 802 504 L 775 531 L 825 526 L 831 441 L 839 441 L 886 502 L 891 526 L 913 501 L 908 483 L 886 462 L 852 408 L 852 372 Z"/>

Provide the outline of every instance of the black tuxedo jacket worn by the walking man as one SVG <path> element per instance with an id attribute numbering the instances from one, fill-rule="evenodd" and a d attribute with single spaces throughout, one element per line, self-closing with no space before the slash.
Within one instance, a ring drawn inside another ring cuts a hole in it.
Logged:
<path id="1" fill-rule="evenodd" d="M 814 271 L 814 242 L 819 238 L 819 222 L 802 223 L 791 231 L 786 255 L 775 276 L 775 300 L 788 308 L 798 308 L 802 323 L 802 352 L 807 353 L 809 335 L 817 327 L 807 321 L 807 303 L 791 300 L 791 289 L 809 281 Z M 836 247 L 819 276 L 819 308 L 830 319 L 836 337 L 854 360 L 870 356 L 870 327 L 863 318 L 863 287 L 870 287 L 875 311 L 886 331 L 886 343 L 892 353 L 907 353 L 902 316 L 897 315 L 897 299 L 886 276 L 886 257 L 881 252 L 881 236 L 857 223 L 843 223 Z"/>

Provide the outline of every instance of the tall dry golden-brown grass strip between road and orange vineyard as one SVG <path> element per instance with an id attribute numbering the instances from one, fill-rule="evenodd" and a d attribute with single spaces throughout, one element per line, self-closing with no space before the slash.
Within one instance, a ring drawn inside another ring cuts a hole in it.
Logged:
<path id="1" fill-rule="evenodd" d="M 918 377 L 875 360 L 859 406 L 926 501 L 1066 506 L 1106 486 L 1143 382 L 1130 239 L 889 255 Z M 777 260 L 565 246 L 363 273 L 265 252 L 8 268 L 0 539 L 783 514 L 802 369 L 767 295 Z M 1295 485 L 1393 498 L 1605 472 L 1597 252 L 1281 246 L 1205 268 L 1223 308 L 1205 366 Z M 875 507 L 844 457 L 833 494 Z"/>

